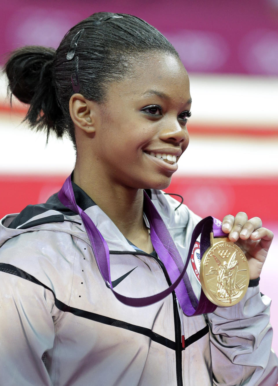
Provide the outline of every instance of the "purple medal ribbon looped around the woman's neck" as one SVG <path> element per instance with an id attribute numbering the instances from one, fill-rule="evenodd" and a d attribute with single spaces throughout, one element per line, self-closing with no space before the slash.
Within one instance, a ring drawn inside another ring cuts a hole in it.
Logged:
<path id="1" fill-rule="evenodd" d="M 200 234 L 201 257 L 206 249 L 210 247 L 210 232 L 212 229 L 215 236 L 225 236 L 221 230 L 221 222 L 219 220 L 213 217 L 206 217 L 196 225 L 193 230 L 188 256 L 184 264 L 166 225 L 154 207 L 151 199 L 147 193 L 144 192 L 144 213 L 149 221 L 151 241 L 168 272 L 172 284 L 169 288 L 156 295 L 147 296 L 145 298 L 129 298 L 120 295 L 113 289 L 110 277 L 110 254 L 107 242 L 103 239 L 102 234 L 99 232 L 92 219 L 76 204 L 71 184 L 71 176 L 64 182 L 64 185 L 58 193 L 58 198 L 66 208 L 69 208 L 75 213 L 79 213 L 90 239 L 100 273 L 119 301 L 127 306 L 143 307 L 164 299 L 175 290 L 176 297 L 185 315 L 200 315 L 215 310 L 216 306 L 209 301 L 202 290 L 200 300 L 198 301 L 186 273 L 186 268 L 191 257 L 193 246 Z"/>

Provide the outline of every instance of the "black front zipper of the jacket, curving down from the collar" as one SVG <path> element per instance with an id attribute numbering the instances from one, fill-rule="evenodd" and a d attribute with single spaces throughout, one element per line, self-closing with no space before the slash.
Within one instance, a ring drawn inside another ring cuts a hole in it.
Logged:
<path id="1" fill-rule="evenodd" d="M 161 260 L 159 260 L 156 256 L 153 256 L 147 252 L 143 251 L 109 251 L 112 255 L 141 255 L 141 256 L 148 256 L 155 259 L 158 264 L 161 266 L 161 269 L 164 273 L 164 276 L 166 278 L 166 281 L 168 283 L 168 286 L 171 286 L 171 280 L 169 278 L 168 272 L 166 271 L 166 268 Z M 177 386 L 183 386 L 183 380 L 182 380 L 182 357 L 181 352 L 184 350 L 182 347 L 181 342 L 181 317 L 178 309 L 178 303 L 176 298 L 175 291 L 172 292 L 173 296 L 173 311 L 174 311 L 174 327 L 175 327 L 175 342 L 176 342 L 176 378 L 177 378 Z M 181 311 L 182 312 L 182 311 Z M 183 337 L 184 339 L 184 337 Z"/>

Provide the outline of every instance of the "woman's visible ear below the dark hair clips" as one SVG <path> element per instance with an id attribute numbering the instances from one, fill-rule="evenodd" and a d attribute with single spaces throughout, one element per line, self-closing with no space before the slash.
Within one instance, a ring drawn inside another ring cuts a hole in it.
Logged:
<path id="1" fill-rule="evenodd" d="M 70 116 L 75 126 L 86 133 L 95 132 L 95 102 L 89 101 L 81 94 L 73 94 L 70 98 Z"/>

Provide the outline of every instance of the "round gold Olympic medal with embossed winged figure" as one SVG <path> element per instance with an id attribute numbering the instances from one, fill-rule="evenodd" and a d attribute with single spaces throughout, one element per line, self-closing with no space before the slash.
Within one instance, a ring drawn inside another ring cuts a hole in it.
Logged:
<path id="1" fill-rule="evenodd" d="M 249 265 L 241 249 L 228 237 L 214 239 L 200 266 L 200 281 L 207 298 L 217 306 L 229 307 L 245 295 L 249 284 Z"/>

